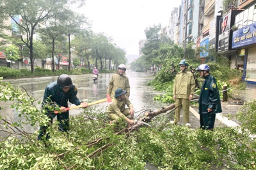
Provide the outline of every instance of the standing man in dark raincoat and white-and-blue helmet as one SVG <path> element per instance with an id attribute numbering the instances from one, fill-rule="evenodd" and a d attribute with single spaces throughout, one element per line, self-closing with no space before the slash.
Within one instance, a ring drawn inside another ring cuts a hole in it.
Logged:
<path id="1" fill-rule="evenodd" d="M 209 73 L 207 64 L 201 64 L 196 70 L 200 78 L 205 79 L 199 97 L 200 128 L 213 130 L 215 114 L 222 112 L 216 79 Z"/>

